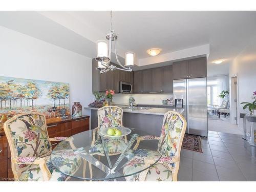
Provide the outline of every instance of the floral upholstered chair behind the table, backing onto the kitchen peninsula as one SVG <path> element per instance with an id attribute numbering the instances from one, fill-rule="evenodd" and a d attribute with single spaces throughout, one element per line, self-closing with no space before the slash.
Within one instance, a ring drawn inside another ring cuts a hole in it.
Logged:
<path id="1" fill-rule="evenodd" d="M 122 118 L 123 110 L 118 106 L 104 106 L 103 108 L 98 109 L 98 127 L 93 130 L 92 147 L 89 150 L 90 154 L 104 156 L 101 140 L 96 133 L 101 129 L 122 126 Z M 126 137 L 119 139 L 105 138 L 104 141 L 106 148 L 108 148 L 109 155 L 120 154 L 127 143 Z"/>

